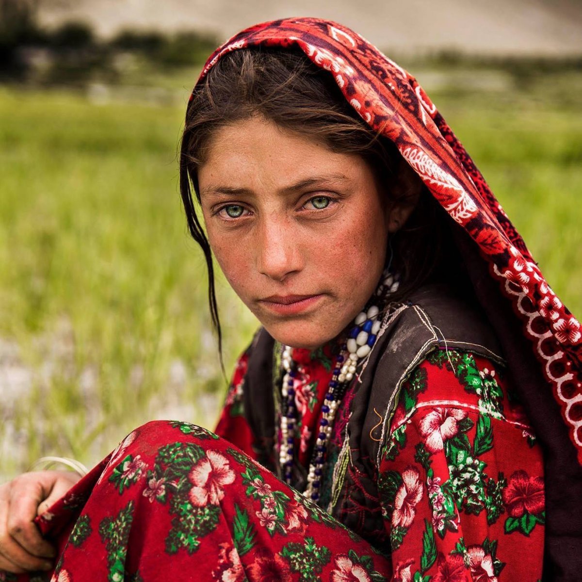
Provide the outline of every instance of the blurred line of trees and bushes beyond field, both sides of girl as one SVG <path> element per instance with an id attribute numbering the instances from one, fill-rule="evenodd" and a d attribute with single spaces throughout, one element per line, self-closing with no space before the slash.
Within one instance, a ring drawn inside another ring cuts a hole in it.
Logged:
<path id="1" fill-rule="evenodd" d="M 65 22 L 54 29 L 38 24 L 40 0 L 0 0 L 0 82 L 84 84 L 99 80 L 116 83 L 128 70 L 172 70 L 200 66 L 219 44 L 200 31 L 164 34 L 159 31 L 121 30 L 103 40 L 86 22 Z M 582 71 L 578 56 L 468 55 L 458 50 L 432 54 L 389 54 L 409 70 L 420 65 L 433 70 L 495 69 L 527 84 L 540 75 Z"/>

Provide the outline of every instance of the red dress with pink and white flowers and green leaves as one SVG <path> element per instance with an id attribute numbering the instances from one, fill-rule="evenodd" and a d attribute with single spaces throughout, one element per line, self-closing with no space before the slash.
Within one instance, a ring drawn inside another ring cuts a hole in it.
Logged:
<path id="1" fill-rule="evenodd" d="M 307 463 L 331 358 L 295 352 L 296 446 Z M 146 424 L 38 520 L 61 550 L 52 580 L 541 579 L 541 453 L 499 364 L 434 350 L 417 365 L 382 443 L 384 533 L 364 539 L 254 460 L 242 407 L 248 358 L 215 432 Z M 43 580 L 0 574 L 25 579 Z"/>

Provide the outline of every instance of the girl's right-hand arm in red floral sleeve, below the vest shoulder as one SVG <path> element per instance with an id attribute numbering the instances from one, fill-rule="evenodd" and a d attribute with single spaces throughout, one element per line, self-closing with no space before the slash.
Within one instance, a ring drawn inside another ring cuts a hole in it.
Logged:
<path id="1" fill-rule="evenodd" d="M 441 355 L 403 386 L 382 450 L 395 580 L 541 579 L 540 448 L 491 361 Z"/>

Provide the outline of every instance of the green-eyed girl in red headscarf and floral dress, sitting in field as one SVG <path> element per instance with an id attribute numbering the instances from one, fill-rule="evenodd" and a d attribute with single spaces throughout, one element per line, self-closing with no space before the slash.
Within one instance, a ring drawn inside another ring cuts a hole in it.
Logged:
<path id="1" fill-rule="evenodd" d="M 5 579 L 50 553 L 24 506 L 59 582 L 577 579 L 580 324 L 413 77 L 333 22 L 246 29 L 180 189 L 219 338 L 212 254 L 262 324 L 218 426 L 140 427 L 48 510 L 22 484 L 58 474 L 3 486 Z"/>

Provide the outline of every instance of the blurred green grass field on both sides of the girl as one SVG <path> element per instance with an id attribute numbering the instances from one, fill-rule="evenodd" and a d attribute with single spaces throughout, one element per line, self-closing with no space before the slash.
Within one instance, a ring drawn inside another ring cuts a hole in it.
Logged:
<path id="1" fill-rule="evenodd" d="M 580 73 L 426 88 L 580 315 Z M 41 455 L 92 464 L 151 418 L 214 424 L 225 381 L 180 207 L 182 116 L 0 87 L 0 480 Z M 219 302 L 229 374 L 255 321 L 222 279 Z"/>

